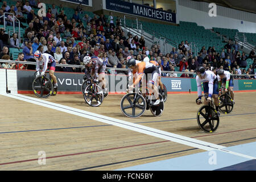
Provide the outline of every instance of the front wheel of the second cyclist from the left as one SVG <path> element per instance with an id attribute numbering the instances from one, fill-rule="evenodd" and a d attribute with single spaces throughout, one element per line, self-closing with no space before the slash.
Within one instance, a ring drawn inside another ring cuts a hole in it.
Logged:
<path id="1" fill-rule="evenodd" d="M 100 86 L 93 84 L 86 86 L 84 91 L 84 100 L 88 105 L 92 107 L 100 106 L 103 99 L 104 96 Z"/>

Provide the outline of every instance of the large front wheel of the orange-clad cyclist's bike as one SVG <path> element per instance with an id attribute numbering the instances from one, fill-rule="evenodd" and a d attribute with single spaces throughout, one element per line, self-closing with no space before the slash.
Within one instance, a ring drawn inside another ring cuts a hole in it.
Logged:
<path id="1" fill-rule="evenodd" d="M 123 96 L 120 107 L 129 118 L 138 118 L 146 111 L 146 100 L 141 94 L 128 93 Z"/>

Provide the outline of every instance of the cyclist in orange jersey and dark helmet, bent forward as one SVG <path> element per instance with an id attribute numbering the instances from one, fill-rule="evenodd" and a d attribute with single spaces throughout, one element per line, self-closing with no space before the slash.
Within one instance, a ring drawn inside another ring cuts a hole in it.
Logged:
<path id="1" fill-rule="evenodd" d="M 159 96 L 158 96 L 158 68 L 152 64 L 152 63 L 146 63 L 146 62 L 140 62 L 138 63 L 134 58 L 129 59 L 127 61 L 127 67 L 130 69 L 133 69 L 133 75 L 136 77 L 134 78 L 133 84 L 129 86 L 129 89 L 133 89 L 135 85 L 139 84 L 139 82 L 142 80 L 143 76 L 146 75 L 146 80 L 148 75 L 151 74 L 151 80 L 148 80 L 147 82 L 147 88 L 154 90 L 154 93 L 156 93 L 155 98 L 156 101 L 153 103 L 153 105 L 158 105 L 160 103 Z M 138 73 L 138 76 L 135 75 Z M 142 80 L 143 81 L 143 80 Z M 143 93 L 143 97 L 145 97 L 145 94 Z"/>

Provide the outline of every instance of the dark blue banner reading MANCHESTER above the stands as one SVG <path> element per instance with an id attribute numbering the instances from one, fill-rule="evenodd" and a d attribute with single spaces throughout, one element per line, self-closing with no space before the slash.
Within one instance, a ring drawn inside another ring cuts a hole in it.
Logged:
<path id="1" fill-rule="evenodd" d="M 118 0 L 106 0 L 106 9 L 136 16 L 143 16 L 146 18 L 162 20 L 165 22 L 176 23 L 175 13 L 154 9 L 149 6 L 143 6 L 136 3 Z"/>

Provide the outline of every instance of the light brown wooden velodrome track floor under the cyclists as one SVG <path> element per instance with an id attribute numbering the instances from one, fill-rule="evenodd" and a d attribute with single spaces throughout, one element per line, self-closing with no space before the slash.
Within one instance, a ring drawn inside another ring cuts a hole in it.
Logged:
<path id="1" fill-rule="evenodd" d="M 110 95 L 96 108 L 85 104 L 82 94 L 58 94 L 44 101 L 225 147 L 256 141 L 255 92 L 235 93 L 232 113 L 221 115 L 213 134 L 197 125 L 196 94 L 168 94 L 161 117 L 147 110 L 137 119 L 122 114 L 122 96 Z M 204 151 L 15 98 L 0 95 L 0 100 L 1 170 L 113 170 Z M 38 164 L 39 151 L 46 152 L 46 165 Z"/>

